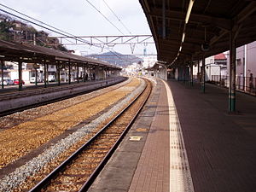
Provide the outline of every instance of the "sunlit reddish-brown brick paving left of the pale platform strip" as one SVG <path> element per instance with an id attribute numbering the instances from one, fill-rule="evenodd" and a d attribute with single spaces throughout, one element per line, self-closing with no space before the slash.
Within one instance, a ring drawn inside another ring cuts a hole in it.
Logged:
<path id="1" fill-rule="evenodd" d="M 161 82 L 156 113 L 129 192 L 170 190 L 169 109 L 166 88 Z"/>

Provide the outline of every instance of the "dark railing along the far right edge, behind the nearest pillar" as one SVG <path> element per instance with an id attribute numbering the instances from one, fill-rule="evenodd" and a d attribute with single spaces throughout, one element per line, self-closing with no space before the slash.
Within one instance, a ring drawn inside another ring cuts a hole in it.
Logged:
<path id="1" fill-rule="evenodd" d="M 229 76 L 212 75 L 212 83 L 229 87 Z M 236 76 L 236 90 L 256 95 L 256 78 Z"/>

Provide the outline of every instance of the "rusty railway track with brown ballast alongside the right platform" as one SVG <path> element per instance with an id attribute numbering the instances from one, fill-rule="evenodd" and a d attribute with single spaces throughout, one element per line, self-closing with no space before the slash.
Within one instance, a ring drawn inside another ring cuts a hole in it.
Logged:
<path id="1" fill-rule="evenodd" d="M 151 84 L 148 80 L 146 82 L 147 86 L 143 92 L 129 106 L 30 189 L 30 192 L 86 191 L 89 189 L 147 101 Z"/>

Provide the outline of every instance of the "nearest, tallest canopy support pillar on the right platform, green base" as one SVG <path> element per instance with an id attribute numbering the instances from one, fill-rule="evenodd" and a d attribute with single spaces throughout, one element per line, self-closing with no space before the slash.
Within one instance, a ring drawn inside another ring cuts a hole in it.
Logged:
<path id="1" fill-rule="evenodd" d="M 229 112 L 236 111 L 236 41 L 233 32 L 230 32 L 230 86 Z"/>

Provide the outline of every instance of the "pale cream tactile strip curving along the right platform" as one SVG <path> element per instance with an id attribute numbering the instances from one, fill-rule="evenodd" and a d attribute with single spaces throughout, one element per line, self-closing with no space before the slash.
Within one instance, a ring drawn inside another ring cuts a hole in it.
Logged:
<path id="1" fill-rule="evenodd" d="M 164 81 L 163 81 L 164 82 Z M 177 116 L 177 110 L 172 97 L 172 92 L 166 82 L 169 103 L 170 125 L 170 191 L 194 192 L 189 160 L 184 146 L 183 132 Z"/>

